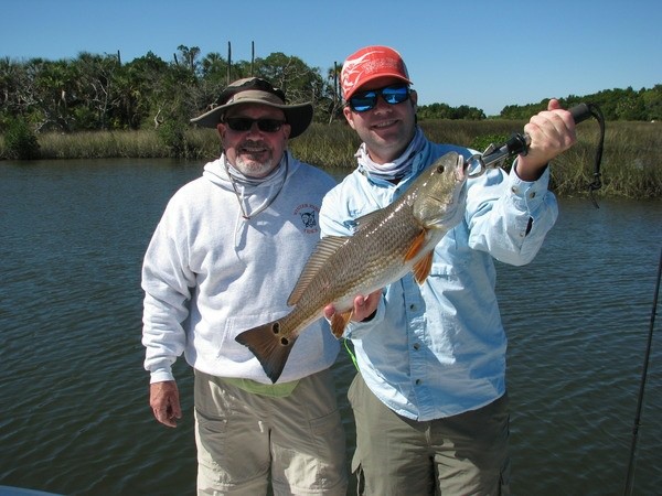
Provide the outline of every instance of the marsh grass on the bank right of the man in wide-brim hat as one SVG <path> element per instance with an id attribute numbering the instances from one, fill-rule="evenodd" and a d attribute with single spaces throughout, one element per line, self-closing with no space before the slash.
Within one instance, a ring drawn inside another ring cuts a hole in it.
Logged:
<path id="1" fill-rule="evenodd" d="M 420 122 L 436 142 L 457 143 L 480 152 L 500 144 L 524 121 L 429 120 Z M 658 122 L 607 122 L 600 174 L 596 176 L 596 151 L 600 129 L 596 121 L 577 127 L 577 143 L 552 162 L 551 188 L 559 196 L 587 196 L 596 179 L 601 187 L 594 194 L 631 198 L 662 197 L 662 128 Z M 354 166 L 359 139 L 346 125 L 314 123 L 290 148 L 303 161 L 320 166 Z"/>

